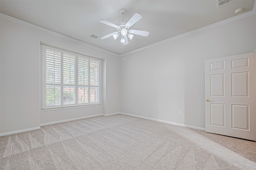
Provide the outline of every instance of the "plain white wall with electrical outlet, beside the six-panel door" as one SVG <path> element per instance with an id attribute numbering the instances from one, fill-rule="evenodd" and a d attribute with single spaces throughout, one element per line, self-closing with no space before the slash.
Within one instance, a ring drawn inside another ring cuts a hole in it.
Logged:
<path id="1" fill-rule="evenodd" d="M 255 49 L 253 15 L 130 54 L 122 60 L 121 112 L 204 128 L 204 60 Z"/>

